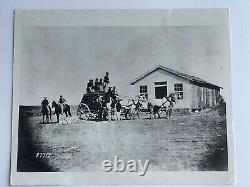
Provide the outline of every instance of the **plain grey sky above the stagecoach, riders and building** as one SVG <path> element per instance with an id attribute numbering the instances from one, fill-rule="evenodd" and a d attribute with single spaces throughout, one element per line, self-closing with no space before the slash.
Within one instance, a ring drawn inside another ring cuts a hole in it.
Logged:
<path id="1" fill-rule="evenodd" d="M 44 96 L 79 104 L 89 79 L 110 73 L 118 93 L 156 65 L 226 85 L 228 38 L 220 27 L 27 27 L 22 32 L 20 104 Z M 223 91 L 222 91 L 223 93 Z"/>

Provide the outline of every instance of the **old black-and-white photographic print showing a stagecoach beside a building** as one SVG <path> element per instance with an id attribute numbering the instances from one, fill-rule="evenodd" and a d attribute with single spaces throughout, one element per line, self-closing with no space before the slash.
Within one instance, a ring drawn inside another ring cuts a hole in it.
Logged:
<path id="1" fill-rule="evenodd" d="M 12 170 L 231 172 L 227 10 L 79 12 L 15 14 Z"/>

